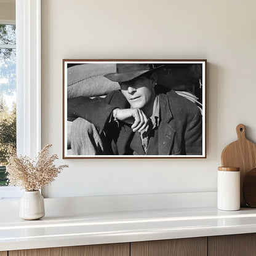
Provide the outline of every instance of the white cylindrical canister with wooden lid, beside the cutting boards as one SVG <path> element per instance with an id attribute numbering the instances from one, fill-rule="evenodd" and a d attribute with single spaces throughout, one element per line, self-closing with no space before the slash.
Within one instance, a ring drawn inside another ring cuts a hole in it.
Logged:
<path id="1" fill-rule="evenodd" d="M 218 167 L 217 207 L 240 209 L 240 171 L 238 167 Z"/>

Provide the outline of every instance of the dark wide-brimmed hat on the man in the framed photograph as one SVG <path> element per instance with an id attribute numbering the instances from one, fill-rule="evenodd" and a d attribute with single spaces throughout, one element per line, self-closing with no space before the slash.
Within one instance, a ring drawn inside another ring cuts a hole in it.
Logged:
<path id="1" fill-rule="evenodd" d="M 113 82 L 127 82 L 161 67 L 162 65 L 154 67 L 151 63 L 116 63 L 116 73 L 104 76 Z"/>

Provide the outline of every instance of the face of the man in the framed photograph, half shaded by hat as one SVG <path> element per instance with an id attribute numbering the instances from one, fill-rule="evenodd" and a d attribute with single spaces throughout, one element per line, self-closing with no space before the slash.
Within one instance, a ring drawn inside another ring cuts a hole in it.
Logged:
<path id="1" fill-rule="evenodd" d="M 154 92 L 155 79 L 151 76 L 139 76 L 133 80 L 127 82 L 119 82 L 121 92 L 126 97 L 132 108 L 140 108 L 147 110 L 153 108 L 154 98 L 156 94 Z"/>

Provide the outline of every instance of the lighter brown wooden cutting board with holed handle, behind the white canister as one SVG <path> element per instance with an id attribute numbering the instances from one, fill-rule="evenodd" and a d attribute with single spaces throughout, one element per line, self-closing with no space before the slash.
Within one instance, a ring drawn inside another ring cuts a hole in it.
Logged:
<path id="1" fill-rule="evenodd" d="M 242 196 L 242 183 L 246 172 L 256 167 L 256 144 L 247 140 L 244 124 L 236 126 L 236 134 L 238 135 L 238 140 L 227 145 L 222 151 L 222 166 L 240 168 L 240 202 L 241 206 L 245 207 L 246 202 Z"/>

